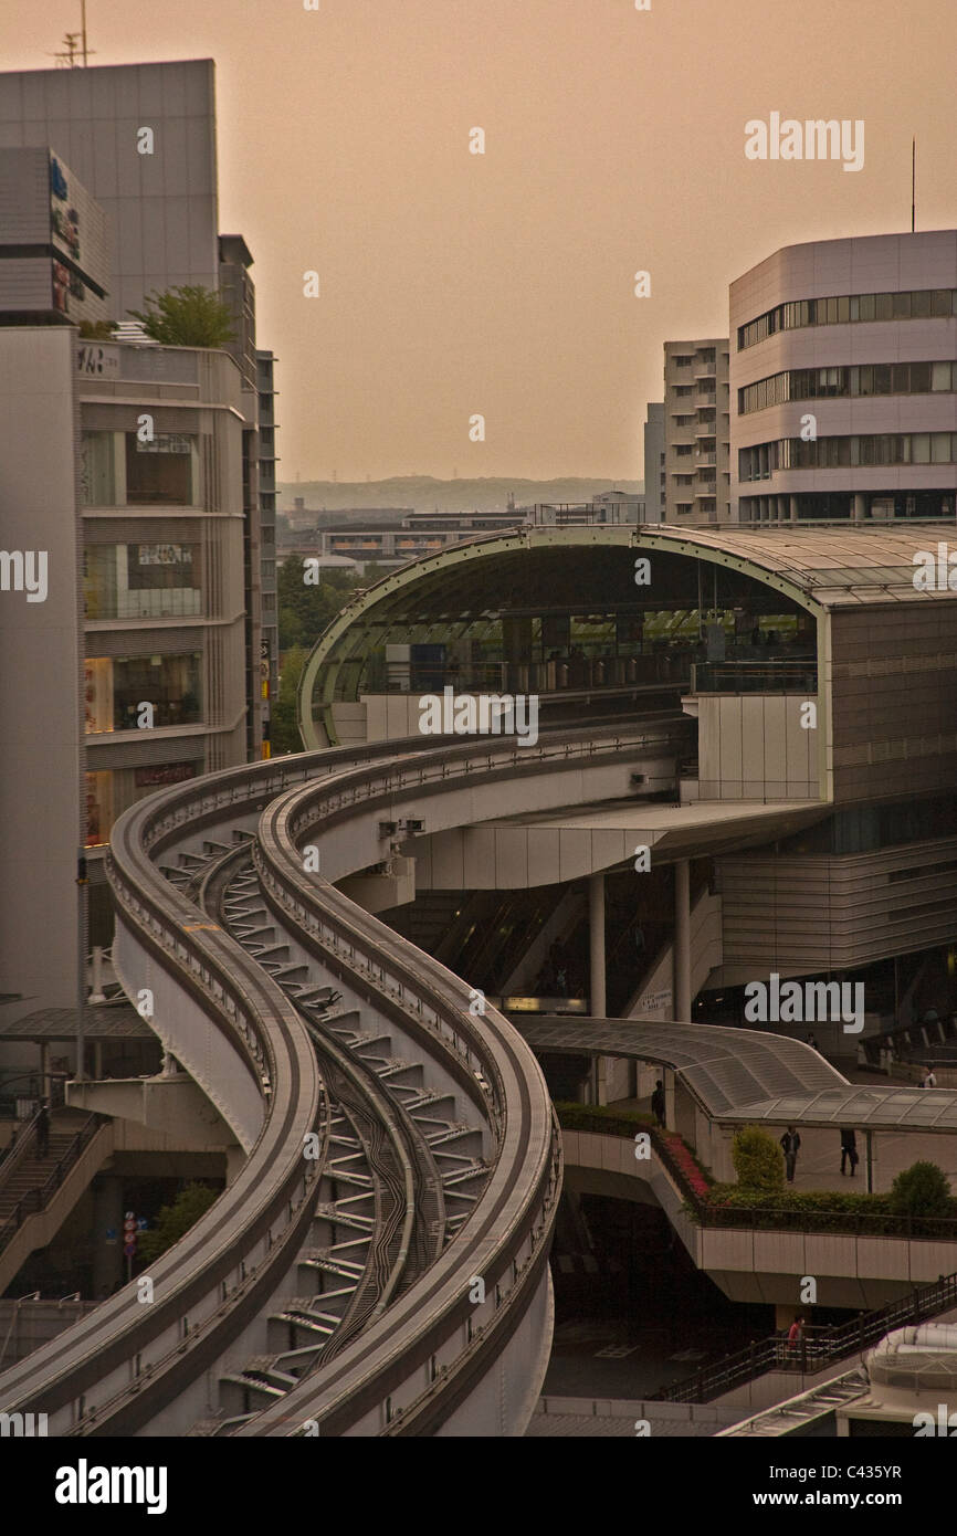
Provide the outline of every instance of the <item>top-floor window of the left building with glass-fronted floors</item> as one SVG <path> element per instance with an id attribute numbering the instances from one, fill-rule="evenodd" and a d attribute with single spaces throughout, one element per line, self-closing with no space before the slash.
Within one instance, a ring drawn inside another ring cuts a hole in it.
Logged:
<path id="1" fill-rule="evenodd" d="M 84 507 L 198 507 L 200 441 L 194 433 L 84 432 L 80 439 Z"/>

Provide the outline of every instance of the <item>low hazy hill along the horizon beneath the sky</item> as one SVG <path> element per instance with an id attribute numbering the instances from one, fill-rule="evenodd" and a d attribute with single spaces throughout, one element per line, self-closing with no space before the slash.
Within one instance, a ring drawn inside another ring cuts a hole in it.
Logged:
<path id="1" fill-rule="evenodd" d="M 508 493 L 518 507 L 536 501 L 591 501 L 605 490 L 644 492 L 642 481 L 587 479 L 553 481 L 485 479 L 439 481 L 430 475 L 396 475 L 384 481 L 301 481 L 277 485 L 280 511 L 292 511 L 301 496 L 307 511 L 339 511 L 344 507 L 412 507 L 415 511 L 492 511 L 504 507 Z"/>

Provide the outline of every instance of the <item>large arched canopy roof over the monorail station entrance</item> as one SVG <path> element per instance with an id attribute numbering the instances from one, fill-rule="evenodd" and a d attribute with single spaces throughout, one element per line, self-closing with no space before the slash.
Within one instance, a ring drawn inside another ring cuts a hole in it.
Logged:
<path id="1" fill-rule="evenodd" d="M 306 745 L 323 745 L 313 720 L 336 697 L 356 697 L 366 659 L 390 639 L 455 641 L 499 613 L 548 613 L 594 604 L 737 607 L 811 613 L 836 607 L 949 599 L 914 587 L 914 558 L 937 553 L 940 522 L 783 524 L 682 528 L 668 524 L 522 527 L 413 561 L 350 602 L 315 645 L 300 682 Z M 651 561 L 637 587 L 634 559 Z"/>

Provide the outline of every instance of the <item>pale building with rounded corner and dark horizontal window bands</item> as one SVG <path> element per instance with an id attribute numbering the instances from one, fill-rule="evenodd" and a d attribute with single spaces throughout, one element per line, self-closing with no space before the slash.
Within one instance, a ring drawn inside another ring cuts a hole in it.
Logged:
<path id="1" fill-rule="evenodd" d="M 954 516 L 957 230 L 786 246 L 730 309 L 742 521 Z"/>

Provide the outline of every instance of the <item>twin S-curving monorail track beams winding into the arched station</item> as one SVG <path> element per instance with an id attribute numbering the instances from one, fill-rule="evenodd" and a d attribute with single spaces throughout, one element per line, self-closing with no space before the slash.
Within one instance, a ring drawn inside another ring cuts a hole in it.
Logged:
<path id="1" fill-rule="evenodd" d="M 143 1427 L 215 1364 L 275 1293 L 312 1220 L 316 1170 L 304 1164 L 301 1147 L 304 1132 L 321 1123 L 321 1080 L 307 1031 L 277 983 L 227 934 L 197 923 L 197 908 L 164 880 L 154 859 L 214 825 L 249 820 L 316 774 L 318 783 L 296 805 L 300 829 L 316 817 L 343 820 L 399 790 L 441 793 L 476 774 L 488 782 L 621 759 L 674 728 L 668 714 L 633 728 L 570 733 L 561 743 L 542 737 L 535 748 L 435 742 L 436 753 L 422 751 L 419 740 L 384 742 L 361 748 L 361 768 L 349 748 L 301 754 L 161 791 L 120 819 L 108 859 L 120 963 L 129 968 L 132 946 L 143 968 L 158 966 L 175 983 L 255 1084 L 261 1124 L 233 1184 L 152 1267 L 154 1306 L 137 1306 L 135 1287 L 126 1287 L 31 1356 L 29 1372 L 14 1367 L 0 1379 L 8 1412 L 34 1405 L 60 1413 L 57 1433 Z M 318 945 L 333 969 L 349 969 L 381 1014 L 418 1028 L 421 1041 L 485 1106 L 496 1157 L 473 1215 L 424 1279 L 393 1304 L 378 1335 L 364 1332 L 332 1372 L 306 1378 L 286 1399 L 281 1422 L 261 1415 L 260 1428 L 243 1433 L 296 1433 L 303 1419 L 318 1419 L 327 1435 L 433 1433 L 498 1358 L 536 1295 L 559 1189 L 558 1132 L 538 1066 L 505 1020 L 473 1020 L 464 983 L 433 962 L 422 965 L 421 951 L 332 886 L 313 880 L 304 889 L 301 862 L 295 874 L 290 869 L 295 831 L 290 842 L 277 816 L 289 816 L 289 808 L 270 816 L 275 842 L 258 851 L 273 911 Z M 124 977 L 127 991 L 131 980 Z M 490 1084 L 488 1103 L 476 1072 Z M 215 1081 L 207 1092 L 229 1118 L 232 1106 Z M 492 1298 L 487 1321 L 476 1326 L 469 1278 L 479 1256 Z M 422 1361 L 432 1361 L 424 1387 Z"/>

